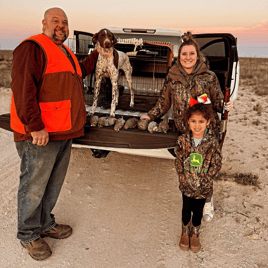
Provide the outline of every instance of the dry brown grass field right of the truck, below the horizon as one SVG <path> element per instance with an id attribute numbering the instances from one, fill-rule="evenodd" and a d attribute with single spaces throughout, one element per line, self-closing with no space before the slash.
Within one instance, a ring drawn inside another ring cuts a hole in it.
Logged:
<path id="1" fill-rule="evenodd" d="M 259 96 L 268 95 L 268 58 L 240 58 L 240 83 L 253 86 Z"/>

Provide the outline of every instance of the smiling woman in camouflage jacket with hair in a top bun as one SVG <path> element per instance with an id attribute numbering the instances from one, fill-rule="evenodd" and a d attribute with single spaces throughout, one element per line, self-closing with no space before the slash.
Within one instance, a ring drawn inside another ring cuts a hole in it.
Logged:
<path id="1" fill-rule="evenodd" d="M 201 55 L 198 44 L 192 38 L 191 32 L 182 36 L 183 43 L 179 48 L 179 59 L 174 65 L 164 82 L 160 97 L 149 112 L 141 119 L 153 121 L 166 114 L 173 106 L 173 119 L 179 135 L 185 133 L 184 113 L 189 107 L 190 98 L 197 99 L 206 94 L 211 100 L 216 126 L 210 129 L 210 133 L 219 139 L 220 119 L 217 113 L 222 111 L 223 94 L 215 73 L 209 70 L 205 58 Z M 228 111 L 233 107 L 230 101 L 227 103 Z M 207 212 L 206 220 L 211 220 L 214 213 L 213 203 L 207 200 L 204 211 Z M 210 212 L 209 212 L 210 211 Z"/>

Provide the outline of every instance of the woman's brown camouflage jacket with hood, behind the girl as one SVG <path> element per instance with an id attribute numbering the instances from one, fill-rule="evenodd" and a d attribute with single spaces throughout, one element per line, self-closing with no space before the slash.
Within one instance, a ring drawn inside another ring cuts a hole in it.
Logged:
<path id="1" fill-rule="evenodd" d="M 220 113 L 222 110 L 223 94 L 217 76 L 208 69 L 204 60 L 195 67 L 191 74 L 186 73 L 180 63 L 174 65 L 165 79 L 156 105 L 148 112 L 148 116 L 153 121 L 166 114 L 173 105 L 174 123 L 178 132 L 184 133 L 186 129 L 183 116 L 185 110 L 189 107 L 189 99 L 190 97 L 196 99 L 204 93 L 211 100 L 219 131 L 217 112 Z"/>

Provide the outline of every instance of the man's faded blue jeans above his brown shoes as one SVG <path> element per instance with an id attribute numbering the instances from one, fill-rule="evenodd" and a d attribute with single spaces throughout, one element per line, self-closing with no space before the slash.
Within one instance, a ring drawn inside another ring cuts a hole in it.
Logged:
<path id="1" fill-rule="evenodd" d="M 16 142 L 21 158 L 18 189 L 17 238 L 29 243 L 55 225 L 51 214 L 65 179 L 72 140 L 49 141 L 46 146 L 31 140 Z"/>

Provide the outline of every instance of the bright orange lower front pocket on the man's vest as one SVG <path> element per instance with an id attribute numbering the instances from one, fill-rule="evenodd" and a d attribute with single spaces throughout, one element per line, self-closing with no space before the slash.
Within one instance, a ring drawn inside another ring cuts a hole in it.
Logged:
<path id="1" fill-rule="evenodd" d="M 48 132 L 66 131 L 72 128 L 70 100 L 40 102 L 39 106 Z"/>

